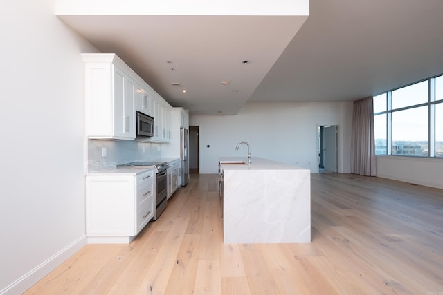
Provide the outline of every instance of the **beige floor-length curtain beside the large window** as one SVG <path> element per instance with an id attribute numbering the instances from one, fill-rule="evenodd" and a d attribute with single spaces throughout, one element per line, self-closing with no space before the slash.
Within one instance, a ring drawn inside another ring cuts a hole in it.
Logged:
<path id="1" fill-rule="evenodd" d="M 372 96 L 354 102 L 351 173 L 375 176 L 374 108 Z"/>

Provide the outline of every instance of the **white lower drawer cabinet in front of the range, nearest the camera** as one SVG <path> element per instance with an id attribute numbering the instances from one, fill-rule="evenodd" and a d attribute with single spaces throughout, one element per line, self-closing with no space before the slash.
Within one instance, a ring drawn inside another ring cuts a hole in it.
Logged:
<path id="1" fill-rule="evenodd" d="M 89 243 L 128 243 L 154 216 L 154 171 L 87 175 Z"/>

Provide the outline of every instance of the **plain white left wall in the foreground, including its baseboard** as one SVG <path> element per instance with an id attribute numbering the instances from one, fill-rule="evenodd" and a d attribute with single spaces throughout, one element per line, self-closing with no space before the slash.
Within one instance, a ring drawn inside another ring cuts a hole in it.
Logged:
<path id="1" fill-rule="evenodd" d="M 0 294 L 20 294 L 85 244 L 84 70 L 96 52 L 53 0 L 0 9 Z"/>

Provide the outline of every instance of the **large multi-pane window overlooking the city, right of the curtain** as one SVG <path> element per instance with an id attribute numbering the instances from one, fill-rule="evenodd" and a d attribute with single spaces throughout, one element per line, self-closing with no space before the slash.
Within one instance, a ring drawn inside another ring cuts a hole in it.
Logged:
<path id="1" fill-rule="evenodd" d="M 376 155 L 443 158 L 443 76 L 374 96 Z"/>

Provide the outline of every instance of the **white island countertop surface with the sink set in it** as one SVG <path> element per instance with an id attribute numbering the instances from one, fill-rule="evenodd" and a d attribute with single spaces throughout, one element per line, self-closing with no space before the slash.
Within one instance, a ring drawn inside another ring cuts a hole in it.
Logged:
<path id="1" fill-rule="evenodd" d="M 258 157 L 251 158 L 251 165 L 248 165 L 246 157 L 220 157 L 219 162 L 224 170 L 308 170 L 300 166 L 291 166 Z M 224 162 L 244 162 L 245 164 L 224 164 Z"/>

